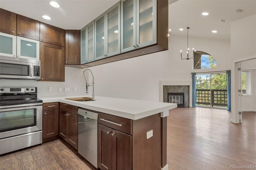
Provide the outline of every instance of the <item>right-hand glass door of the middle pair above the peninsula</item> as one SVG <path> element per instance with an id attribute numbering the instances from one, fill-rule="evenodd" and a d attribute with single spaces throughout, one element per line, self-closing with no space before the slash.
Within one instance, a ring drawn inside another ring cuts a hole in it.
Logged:
<path id="1" fill-rule="evenodd" d="M 106 57 L 120 54 L 120 2 L 106 12 Z"/>

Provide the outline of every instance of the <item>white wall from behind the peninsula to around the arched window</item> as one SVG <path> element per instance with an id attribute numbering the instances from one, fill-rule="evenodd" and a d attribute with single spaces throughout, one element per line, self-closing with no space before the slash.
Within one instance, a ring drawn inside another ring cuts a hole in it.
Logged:
<path id="1" fill-rule="evenodd" d="M 216 69 L 203 71 L 231 69 L 230 41 L 192 37 L 189 41 L 216 59 Z M 193 60 L 181 60 L 180 49 L 186 49 L 186 36 L 172 35 L 169 50 L 91 67 L 95 95 L 159 101 L 159 81 L 191 82 Z"/>

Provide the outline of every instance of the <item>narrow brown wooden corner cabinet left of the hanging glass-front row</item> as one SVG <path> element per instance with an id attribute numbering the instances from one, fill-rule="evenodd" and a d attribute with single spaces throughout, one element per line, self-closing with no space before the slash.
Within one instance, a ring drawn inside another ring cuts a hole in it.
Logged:
<path id="1" fill-rule="evenodd" d="M 80 30 L 66 30 L 65 64 L 80 65 Z"/>

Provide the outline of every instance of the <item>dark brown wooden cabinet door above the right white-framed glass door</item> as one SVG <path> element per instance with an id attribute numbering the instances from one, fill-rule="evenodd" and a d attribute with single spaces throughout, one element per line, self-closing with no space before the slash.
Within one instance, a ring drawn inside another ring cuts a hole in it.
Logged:
<path id="1" fill-rule="evenodd" d="M 39 41 L 40 22 L 17 14 L 17 36 Z"/>

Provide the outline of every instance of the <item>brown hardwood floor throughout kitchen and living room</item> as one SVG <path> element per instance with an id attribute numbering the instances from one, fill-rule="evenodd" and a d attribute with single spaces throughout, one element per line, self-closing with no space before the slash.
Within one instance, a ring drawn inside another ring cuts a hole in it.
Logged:
<path id="1" fill-rule="evenodd" d="M 243 112 L 243 123 L 230 123 L 220 109 L 176 108 L 167 123 L 169 170 L 222 170 L 231 164 L 256 169 L 256 113 Z M 54 140 L 0 156 L 1 170 L 95 170 L 63 140 Z"/>

